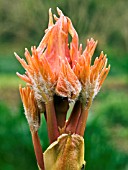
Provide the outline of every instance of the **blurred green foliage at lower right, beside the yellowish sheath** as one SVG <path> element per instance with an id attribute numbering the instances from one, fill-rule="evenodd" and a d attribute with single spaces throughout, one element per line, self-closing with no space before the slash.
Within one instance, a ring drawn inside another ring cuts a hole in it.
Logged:
<path id="1" fill-rule="evenodd" d="M 87 169 L 127 170 L 127 95 L 116 93 L 116 89 L 105 91 L 92 108 L 85 133 Z"/>

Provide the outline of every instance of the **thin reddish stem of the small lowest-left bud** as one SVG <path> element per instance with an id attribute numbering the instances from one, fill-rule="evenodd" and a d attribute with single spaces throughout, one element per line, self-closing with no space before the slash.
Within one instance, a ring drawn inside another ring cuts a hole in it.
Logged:
<path id="1" fill-rule="evenodd" d="M 32 131 L 31 134 L 32 134 L 32 142 L 33 142 L 38 166 L 40 167 L 41 170 L 45 170 L 44 160 L 43 160 L 43 152 L 42 152 L 42 147 L 41 147 L 40 140 L 38 137 L 38 133 L 37 133 L 37 131 L 36 132 Z"/>

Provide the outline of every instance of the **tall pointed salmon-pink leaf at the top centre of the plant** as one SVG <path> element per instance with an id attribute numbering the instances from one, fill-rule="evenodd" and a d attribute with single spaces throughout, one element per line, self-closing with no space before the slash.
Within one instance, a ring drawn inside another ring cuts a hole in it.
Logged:
<path id="1" fill-rule="evenodd" d="M 65 17 L 61 10 L 57 8 L 59 18 L 53 23 L 51 9 L 49 10 L 49 26 L 46 35 L 37 48 L 39 56 L 42 54 L 46 57 L 52 71 L 59 73 L 61 61 L 67 59 L 73 67 L 78 59 L 78 35 L 75 31 L 71 20 Z M 68 46 L 68 36 L 72 37 L 70 47 Z M 70 48 L 70 49 L 69 49 Z"/>

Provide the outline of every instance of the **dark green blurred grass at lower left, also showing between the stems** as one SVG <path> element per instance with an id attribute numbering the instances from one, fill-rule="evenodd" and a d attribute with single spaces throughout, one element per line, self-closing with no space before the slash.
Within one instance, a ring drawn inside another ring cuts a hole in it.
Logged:
<path id="1" fill-rule="evenodd" d="M 23 108 L 19 107 L 17 113 L 8 108 L 7 104 L 0 102 L 0 169 L 2 170 L 35 170 L 36 158 L 33 151 L 31 134 L 23 114 Z M 46 149 L 48 137 L 44 119 L 39 132 L 42 146 Z"/>

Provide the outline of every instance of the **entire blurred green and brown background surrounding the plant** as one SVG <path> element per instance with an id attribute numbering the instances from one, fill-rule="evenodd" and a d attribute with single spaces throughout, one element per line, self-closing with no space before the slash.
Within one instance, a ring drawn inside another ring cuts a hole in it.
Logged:
<path id="1" fill-rule="evenodd" d="M 86 170 L 128 170 L 128 1 L 0 0 L 0 170 L 36 170 L 31 135 L 18 92 L 23 73 L 13 52 L 38 45 L 48 9 L 68 15 L 80 42 L 97 39 L 94 57 L 108 54 L 111 71 L 95 98 L 85 133 Z M 40 137 L 48 146 L 45 122 Z"/>

